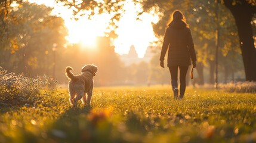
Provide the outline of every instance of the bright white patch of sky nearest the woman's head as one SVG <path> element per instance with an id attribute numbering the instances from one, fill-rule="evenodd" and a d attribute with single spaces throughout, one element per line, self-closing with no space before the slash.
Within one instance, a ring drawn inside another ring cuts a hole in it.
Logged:
<path id="1" fill-rule="evenodd" d="M 134 5 L 130 1 L 125 4 L 125 14 L 118 23 L 115 39 L 115 51 L 119 54 L 128 54 L 129 49 L 134 45 L 138 57 L 143 58 L 150 45 L 150 42 L 157 41 L 154 35 L 152 23 L 157 23 L 159 17 L 157 15 L 143 13 L 137 20 L 137 12 L 141 11 L 141 5 Z"/>

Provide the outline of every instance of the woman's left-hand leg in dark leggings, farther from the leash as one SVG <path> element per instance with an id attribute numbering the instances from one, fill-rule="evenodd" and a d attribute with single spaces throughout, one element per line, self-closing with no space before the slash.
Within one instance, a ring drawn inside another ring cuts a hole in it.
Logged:
<path id="1" fill-rule="evenodd" d="M 172 91 L 174 92 L 174 98 L 178 98 L 178 66 L 169 67 L 171 74 L 171 86 Z"/>

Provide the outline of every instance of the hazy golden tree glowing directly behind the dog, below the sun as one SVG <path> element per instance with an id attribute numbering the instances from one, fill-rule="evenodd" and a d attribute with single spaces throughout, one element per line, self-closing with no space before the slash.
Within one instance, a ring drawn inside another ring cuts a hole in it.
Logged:
<path id="1" fill-rule="evenodd" d="M 98 66 L 94 79 L 98 86 L 115 85 L 122 80 L 121 77 L 125 78 L 124 73 L 121 72 L 121 61 L 113 46 L 110 45 L 110 38 L 97 37 L 97 45 L 94 48 L 81 46 L 79 43 L 70 45 L 63 50 L 62 56 L 62 62 L 59 63 L 59 67 L 62 67 L 61 73 L 66 66 L 71 66 L 74 74 L 80 74 L 81 67 L 85 64 Z M 60 82 L 68 81 L 64 73 L 59 76 L 59 79 Z"/>

